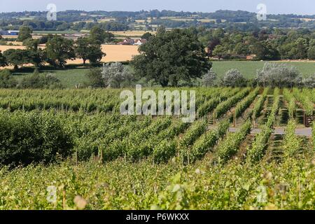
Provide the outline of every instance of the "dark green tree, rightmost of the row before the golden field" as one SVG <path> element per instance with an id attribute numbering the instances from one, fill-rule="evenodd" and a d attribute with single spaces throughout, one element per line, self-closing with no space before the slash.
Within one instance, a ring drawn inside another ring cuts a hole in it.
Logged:
<path id="1" fill-rule="evenodd" d="M 78 38 L 75 50 L 76 55 L 83 59 L 83 64 L 85 64 L 87 60 L 91 63 L 97 63 L 106 55 L 102 52 L 102 46 L 99 43 L 91 41 L 90 38 Z"/>

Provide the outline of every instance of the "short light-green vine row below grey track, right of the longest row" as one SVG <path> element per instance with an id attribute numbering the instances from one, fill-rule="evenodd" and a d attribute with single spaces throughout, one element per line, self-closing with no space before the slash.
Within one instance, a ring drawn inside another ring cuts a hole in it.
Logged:
<path id="1" fill-rule="evenodd" d="M 283 138 L 283 151 L 286 157 L 295 155 L 302 144 L 301 140 L 295 134 L 295 129 L 295 121 L 289 120 L 286 127 L 286 134 Z"/>

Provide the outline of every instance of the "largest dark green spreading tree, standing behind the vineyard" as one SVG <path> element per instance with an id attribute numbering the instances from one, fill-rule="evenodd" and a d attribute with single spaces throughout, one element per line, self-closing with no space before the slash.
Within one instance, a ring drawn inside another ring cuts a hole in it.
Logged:
<path id="1" fill-rule="evenodd" d="M 139 52 L 132 60 L 135 73 L 162 86 L 200 78 L 211 68 L 204 46 L 190 29 L 165 31 L 159 27 Z"/>

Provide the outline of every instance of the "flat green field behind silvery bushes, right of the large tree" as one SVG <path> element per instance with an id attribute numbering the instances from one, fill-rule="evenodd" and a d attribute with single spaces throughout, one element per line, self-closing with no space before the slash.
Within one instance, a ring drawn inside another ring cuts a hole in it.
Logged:
<path id="1" fill-rule="evenodd" d="M 275 62 L 280 63 L 280 62 Z M 311 62 L 283 62 L 284 64 L 296 66 L 300 73 L 306 77 L 315 72 L 315 63 Z M 254 78 L 256 71 L 262 69 L 265 62 L 244 62 L 244 61 L 224 61 L 213 62 L 213 69 L 219 77 L 223 77 L 225 72 L 230 69 L 238 69 L 245 78 Z"/>

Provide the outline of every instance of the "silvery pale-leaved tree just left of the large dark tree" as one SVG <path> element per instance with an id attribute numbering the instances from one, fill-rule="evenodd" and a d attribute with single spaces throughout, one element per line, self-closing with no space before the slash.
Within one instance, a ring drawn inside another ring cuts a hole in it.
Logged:
<path id="1" fill-rule="evenodd" d="M 120 62 L 103 64 L 102 78 L 106 87 L 119 88 L 130 86 L 133 76 Z"/>

